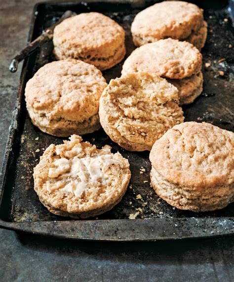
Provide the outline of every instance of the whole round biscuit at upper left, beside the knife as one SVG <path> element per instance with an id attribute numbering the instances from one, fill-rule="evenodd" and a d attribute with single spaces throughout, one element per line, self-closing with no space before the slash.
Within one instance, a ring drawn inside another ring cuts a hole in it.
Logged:
<path id="1" fill-rule="evenodd" d="M 125 33 L 111 18 L 96 12 L 65 19 L 54 29 L 54 55 L 94 64 L 100 70 L 119 63 L 125 56 Z"/>

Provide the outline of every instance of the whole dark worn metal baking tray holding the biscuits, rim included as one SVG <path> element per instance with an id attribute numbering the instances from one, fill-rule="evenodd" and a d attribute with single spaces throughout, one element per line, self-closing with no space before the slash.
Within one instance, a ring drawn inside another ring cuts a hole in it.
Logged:
<path id="1" fill-rule="evenodd" d="M 204 1 L 207 2 L 212 1 Z M 199 3 L 202 4 L 202 1 Z M 215 3 L 215 7 L 204 7 L 209 32 L 202 54 L 203 62 L 211 64 L 203 67 L 204 90 L 193 104 L 183 107 L 183 110 L 186 121 L 206 121 L 233 130 L 234 54 L 230 44 L 234 43 L 234 33 L 227 5 L 222 6 L 224 1 Z M 98 11 L 124 27 L 128 56 L 134 49 L 130 35 L 131 22 L 136 13 L 151 4 L 144 1 L 39 3 L 34 8 L 29 41 L 38 37 L 43 29 L 68 9 L 77 13 Z M 228 21 L 224 20 L 226 18 Z M 102 129 L 83 136 L 83 139 L 98 147 L 109 144 L 113 152 L 119 151 L 128 158 L 132 171 L 131 188 L 128 188 L 122 201 L 112 211 L 98 218 L 76 221 L 55 216 L 42 206 L 33 189 L 33 168 L 49 144 L 60 144 L 63 140 L 33 126 L 25 107 L 24 89 L 39 67 L 54 59 L 51 51 L 52 43 L 47 43 L 23 64 L 0 180 L 0 226 L 89 240 L 158 240 L 233 234 L 234 204 L 209 213 L 180 211 L 169 206 L 150 187 L 149 153 L 121 149 Z M 122 63 L 103 72 L 107 81 L 120 75 L 121 66 Z M 141 167 L 146 172 L 141 174 Z M 136 213 L 138 216 L 135 220 L 128 219 L 130 214 Z"/>

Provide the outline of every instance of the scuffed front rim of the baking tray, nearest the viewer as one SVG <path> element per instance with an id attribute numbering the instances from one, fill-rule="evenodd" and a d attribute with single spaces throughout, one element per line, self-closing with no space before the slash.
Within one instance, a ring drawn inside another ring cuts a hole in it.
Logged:
<path id="1" fill-rule="evenodd" d="M 7 229 L 84 240 L 156 241 L 229 235 L 232 218 L 139 219 L 8 223 Z"/>

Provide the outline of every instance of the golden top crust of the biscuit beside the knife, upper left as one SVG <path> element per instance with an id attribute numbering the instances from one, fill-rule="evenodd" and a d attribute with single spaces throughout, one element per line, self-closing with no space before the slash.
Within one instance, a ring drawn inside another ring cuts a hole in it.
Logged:
<path id="1" fill-rule="evenodd" d="M 54 29 L 54 45 L 66 45 L 75 48 L 77 53 L 84 56 L 85 51 L 89 53 L 96 49 L 98 55 L 106 57 L 105 53 L 108 48 L 116 51 L 116 46 L 124 39 L 125 33 L 123 28 L 110 17 L 101 13 L 90 12 L 81 13 L 77 16 L 65 19 Z M 112 48 L 110 48 L 112 46 Z M 103 49 L 103 54 L 102 50 Z M 108 54 L 110 56 L 110 54 Z"/>

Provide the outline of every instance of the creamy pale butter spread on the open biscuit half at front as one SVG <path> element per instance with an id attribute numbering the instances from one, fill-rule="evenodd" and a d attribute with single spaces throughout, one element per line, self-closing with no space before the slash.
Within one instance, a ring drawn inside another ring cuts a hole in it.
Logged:
<path id="1" fill-rule="evenodd" d="M 110 150 L 109 148 L 107 148 Z M 57 166 L 56 169 L 49 169 L 49 177 L 57 177 L 63 172 L 68 172 L 70 176 L 74 179 L 66 184 L 63 188 L 61 185 L 53 185 L 53 189 L 49 188 L 48 191 L 54 191 L 60 189 L 66 192 L 73 193 L 75 197 L 80 197 L 88 187 L 89 184 L 96 184 L 101 182 L 102 184 L 107 184 L 108 175 L 103 172 L 104 168 L 108 168 L 111 165 L 121 165 L 119 161 L 113 158 L 114 155 L 101 155 L 98 157 L 85 157 L 78 158 L 77 156 L 71 160 L 61 158 L 56 160 L 54 164 Z M 78 179 L 76 179 L 78 178 Z"/>

